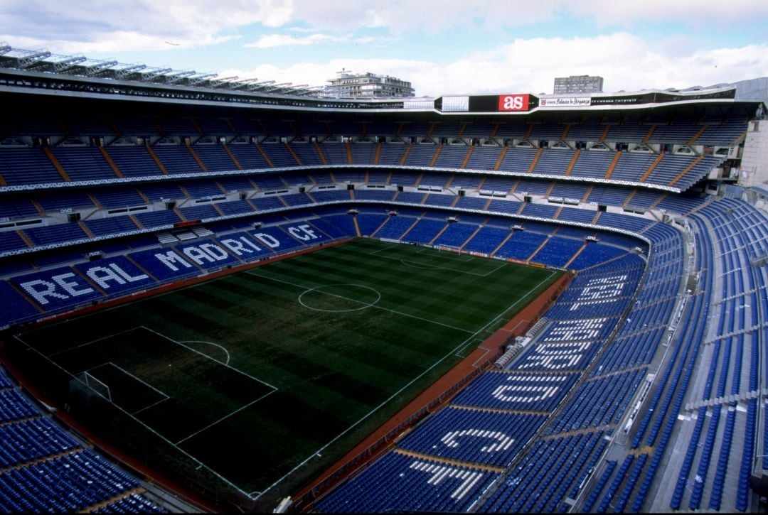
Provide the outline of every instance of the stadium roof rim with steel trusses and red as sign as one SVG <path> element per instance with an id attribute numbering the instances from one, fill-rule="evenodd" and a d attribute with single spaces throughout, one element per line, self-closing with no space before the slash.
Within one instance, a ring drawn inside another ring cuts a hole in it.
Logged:
<path id="1" fill-rule="evenodd" d="M 530 114 L 536 111 L 647 109 L 693 103 L 732 103 L 733 84 L 688 90 L 531 94 L 528 92 L 382 99 L 329 98 L 323 87 L 257 78 L 220 78 L 215 73 L 99 61 L 83 55 L 22 50 L 0 43 L 0 87 L 21 94 L 90 96 L 300 111 L 410 111 L 434 114 Z M 752 107 L 750 107 L 752 109 Z"/>

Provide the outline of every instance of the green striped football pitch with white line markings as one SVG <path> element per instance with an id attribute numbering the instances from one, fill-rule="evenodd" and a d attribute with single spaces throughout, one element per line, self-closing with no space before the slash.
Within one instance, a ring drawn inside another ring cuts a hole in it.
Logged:
<path id="1" fill-rule="evenodd" d="M 15 339 L 273 507 L 561 273 L 356 239 Z"/>

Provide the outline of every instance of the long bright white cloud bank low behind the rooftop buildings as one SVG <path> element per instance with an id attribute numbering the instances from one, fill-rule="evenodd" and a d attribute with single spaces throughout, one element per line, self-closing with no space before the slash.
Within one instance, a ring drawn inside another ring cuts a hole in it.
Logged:
<path id="1" fill-rule="evenodd" d="M 327 84 L 341 68 L 411 81 L 418 96 L 445 94 L 551 93 L 555 77 L 600 75 L 604 90 L 639 91 L 708 86 L 768 75 L 768 45 L 665 54 L 626 32 L 594 38 L 529 38 L 470 54 L 447 64 L 427 59 L 329 59 L 222 75 L 278 82 Z"/>

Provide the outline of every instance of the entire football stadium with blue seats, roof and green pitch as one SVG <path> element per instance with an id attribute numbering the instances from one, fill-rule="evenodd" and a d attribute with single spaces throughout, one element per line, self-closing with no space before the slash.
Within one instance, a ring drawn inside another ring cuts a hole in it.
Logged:
<path id="1" fill-rule="evenodd" d="M 3 512 L 765 508 L 763 101 L 0 51 Z"/>

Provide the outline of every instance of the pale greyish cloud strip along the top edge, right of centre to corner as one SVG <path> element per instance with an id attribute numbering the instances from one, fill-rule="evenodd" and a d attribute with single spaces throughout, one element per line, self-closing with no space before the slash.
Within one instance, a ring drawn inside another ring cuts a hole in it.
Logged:
<path id="1" fill-rule="evenodd" d="M 394 35 L 421 31 L 432 34 L 453 28 L 515 28 L 548 21 L 590 21 L 598 26 L 632 27 L 640 22 L 673 21 L 690 26 L 710 26 L 727 30 L 723 22 L 763 25 L 768 17 L 768 2 L 730 0 L 644 0 L 616 2 L 591 0 L 389 0 L 375 8 L 366 2 L 323 2 L 294 0 L 291 18 L 323 30 L 347 31 L 359 27 L 387 28 Z"/>

